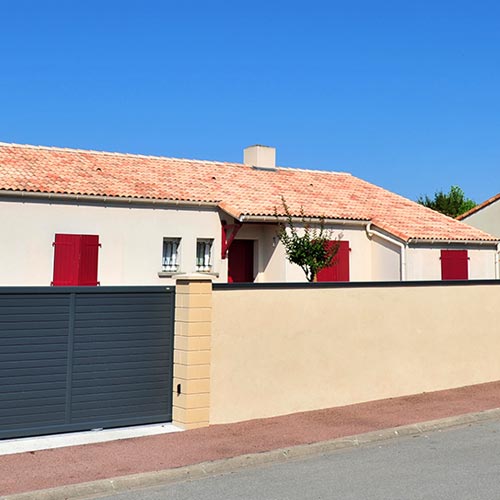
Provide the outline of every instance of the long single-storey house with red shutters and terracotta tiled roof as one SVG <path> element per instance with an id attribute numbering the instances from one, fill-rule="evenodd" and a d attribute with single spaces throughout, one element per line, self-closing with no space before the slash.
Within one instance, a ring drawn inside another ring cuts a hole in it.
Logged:
<path id="1" fill-rule="evenodd" d="M 2 285 L 304 281 L 281 203 L 341 235 L 327 281 L 498 278 L 499 237 L 348 173 L 0 143 Z"/>

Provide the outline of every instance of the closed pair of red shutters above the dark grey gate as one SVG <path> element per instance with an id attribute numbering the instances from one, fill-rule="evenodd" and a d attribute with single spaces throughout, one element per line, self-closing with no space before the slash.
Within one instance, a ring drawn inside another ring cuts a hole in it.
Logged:
<path id="1" fill-rule="evenodd" d="M 99 236 L 56 234 L 53 286 L 97 286 Z"/>

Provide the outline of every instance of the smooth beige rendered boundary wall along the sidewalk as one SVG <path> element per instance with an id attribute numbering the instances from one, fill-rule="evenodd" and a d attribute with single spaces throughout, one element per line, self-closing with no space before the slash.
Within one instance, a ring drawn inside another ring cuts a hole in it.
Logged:
<path id="1" fill-rule="evenodd" d="M 500 379 L 500 287 L 213 292 L 210 423 Z"/>

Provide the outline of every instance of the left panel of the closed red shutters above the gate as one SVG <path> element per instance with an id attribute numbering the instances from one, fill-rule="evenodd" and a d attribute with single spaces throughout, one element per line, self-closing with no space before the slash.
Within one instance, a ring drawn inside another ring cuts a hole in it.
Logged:
<path id="1" fill-rule="evenodd" d="M 52 285 L 78 285 L 79 258 L 80 236 L 78 234 L 56 234 Z"/>

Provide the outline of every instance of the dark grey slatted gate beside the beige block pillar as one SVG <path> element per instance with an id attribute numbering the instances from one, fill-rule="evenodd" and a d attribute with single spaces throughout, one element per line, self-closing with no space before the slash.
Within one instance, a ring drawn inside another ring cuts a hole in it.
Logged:
<path id="1" fill-rule="evenodd" d="M 0 438 L 170 421 L 174 294 L 0 288 Z"/>

